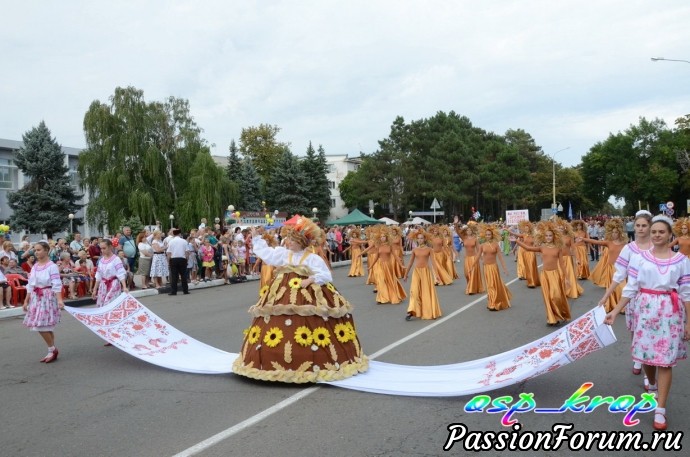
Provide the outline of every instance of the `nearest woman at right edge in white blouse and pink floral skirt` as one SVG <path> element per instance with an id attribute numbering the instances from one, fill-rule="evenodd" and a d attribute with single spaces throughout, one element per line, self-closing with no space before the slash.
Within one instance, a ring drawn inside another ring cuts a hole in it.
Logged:
<path id="1" fill-rule="evenodd" d="M 643 364 L 646 390 L 658 392 L 654 430 L 667 428 L 672 369 L 687 357 L 690 339 L 690 260 L 670 249 L 672 226 L 668 216 L 652 219 L 652 248 L 630 258 L 623 298 L 604 320 L 613 325 L 620 310 L 635 299 L 635 306 L 628 310 L 635 314 L 631 353 L 633 360 Z"/>

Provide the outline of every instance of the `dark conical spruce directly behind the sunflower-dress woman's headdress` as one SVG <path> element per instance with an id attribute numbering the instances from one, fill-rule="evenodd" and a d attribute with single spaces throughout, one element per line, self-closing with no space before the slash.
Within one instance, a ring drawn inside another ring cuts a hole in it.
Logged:
<path id="1" fill-rule="evenodd" d="M 311 213 L 304 173 L 299 160 L 290 151 L 283 152 L 266 183 L 266 200 L 273 208 L 291 215 Z"/>

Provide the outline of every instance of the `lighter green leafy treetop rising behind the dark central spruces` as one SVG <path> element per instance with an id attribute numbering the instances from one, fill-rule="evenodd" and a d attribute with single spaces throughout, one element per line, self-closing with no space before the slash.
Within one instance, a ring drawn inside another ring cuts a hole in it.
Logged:
<path id="1" fill-rule="evenodd" d="M 276 137 L 280 132 L 277 125 L 260 124 L 258 127 L 247 127 L 240 134 L 240 152 L 249 157 L 264 184 L 281 160 L 283 152 L 289 150 L 288 143 L 279 142 Z"/>

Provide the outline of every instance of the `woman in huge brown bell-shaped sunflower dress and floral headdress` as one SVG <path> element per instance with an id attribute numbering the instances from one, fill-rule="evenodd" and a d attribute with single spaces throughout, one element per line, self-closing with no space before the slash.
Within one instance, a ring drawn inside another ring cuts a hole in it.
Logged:
<path id="1" fill-rule="evenodd" d="M 261 229 L 253 228 L 255 235 Z M 335 381 L 367 370 L 352 306 L 331 283 L 331 271 L 312 253 L 321 230 L 300 218 L 285 247 L 269 247 L 254 236 L 254 251 L 276 267 L 275 278 L 249 308 L 254 317 L 245 332 L 233 372 L 265 381 Z"/>

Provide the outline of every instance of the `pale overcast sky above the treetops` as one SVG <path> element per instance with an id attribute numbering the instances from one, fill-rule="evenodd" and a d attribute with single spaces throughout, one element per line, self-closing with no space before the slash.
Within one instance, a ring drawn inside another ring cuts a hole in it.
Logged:
<path id="1" fill-rule="evenodd" d="M 45 120 L 63 146 L 117 86 L 188 99 L 212 153 L 280 127 L 303 154 L 376 150 L 455 111 L 576 165 L 640 116 L 690 113 L 690 1 L 0 0 L 0 138 Z"/>

